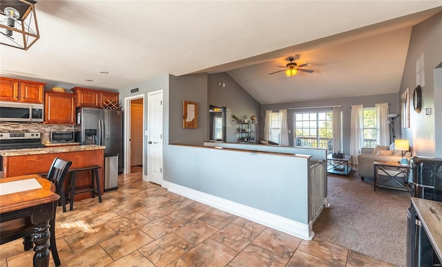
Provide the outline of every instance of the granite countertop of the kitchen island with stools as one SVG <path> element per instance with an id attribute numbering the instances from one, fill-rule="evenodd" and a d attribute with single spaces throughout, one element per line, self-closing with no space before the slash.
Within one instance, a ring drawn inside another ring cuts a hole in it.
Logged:
<path id="1" fill-rule="evenodd" d="M 102 145 L 70 145 L 62 147 L 42 147 L 42 148 L 30 148 L 30 149 L 9 149 L 0 150 L 0 156 L 26 156 L 37 154 L 51 154 L 51 153 L 64 153 L 75 151 L 88 151 L 105 149 Z"/>

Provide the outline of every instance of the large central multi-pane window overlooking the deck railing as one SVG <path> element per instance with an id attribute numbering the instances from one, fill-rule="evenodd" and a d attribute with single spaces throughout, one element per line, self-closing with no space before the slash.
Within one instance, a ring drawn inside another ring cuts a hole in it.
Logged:
<path id="1" fill-rule="evenodd" d="M 332 111 L 295 114 L 295 145 L 323 147 L 332 151 Z"/>

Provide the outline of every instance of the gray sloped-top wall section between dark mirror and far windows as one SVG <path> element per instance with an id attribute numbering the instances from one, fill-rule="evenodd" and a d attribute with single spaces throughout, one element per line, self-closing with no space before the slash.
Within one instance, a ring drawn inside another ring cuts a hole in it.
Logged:
<path id="1" fill-rule="evenodd" d="M 224 83 L 225 87 L 218 85 Z M 250 116 L 257 116 L 259 119 L 260 103 L 252 98 L 242 87 L 235 82 L 227 73 L 210 74 L 208 77 L 208 98 L 207 103 L 218 107 L 226 107 L 227 113 L 227 142 L 238 142 L 238 128 L 240 125 L 231 124 L 230 117 L 235 115 L 242 119 L 250 120 Z M 260 136 L 256 136 L 259 140 Z M 206 137 L 209 140 L 209 135 Z"/>

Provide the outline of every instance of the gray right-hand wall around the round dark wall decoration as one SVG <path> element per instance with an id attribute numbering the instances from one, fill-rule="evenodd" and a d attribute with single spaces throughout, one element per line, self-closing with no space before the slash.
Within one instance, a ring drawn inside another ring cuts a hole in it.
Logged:
<path id="1" fill-rule="evenodd" d="M 417 85 L 416 61 L 421 55 L 424 57 L 425 71 L 425 86 L 420 84 L 422 87 L 423 111 L 416 113 L 413 109 L 412 95 Z M 436 156 L 436 145 L 431 137 L 432 135 L 439 135 L 434 136 L 436 142 L 441 142 L 442 139 L 440 122 L 437 124 L 438 131 L 435 131 L 436 118 L 439 118 L 439 120 L 442 118 L 441 105 L 439 104 L 442 100 L 441 84 L 439 82 L 439 85 L 435 86 L 434 82 L 437 79 L 440 81 L 440 77 L 434 77 L 434 73 L 440 74 L 441 72 L 435 72 L 434 68 L 440 65 L 441 62 L 442 12 L 439 12 L 439 14 L 413 27 L 402 76 L 400 93 L 407 88 L 410 89 L 410 128 L 401 129 L 401 136 L 410 140 L 410 149 L 412 149 L 413 156 Z M 432 116 L 425 116 L 426 107 L 433 109 Z M 441 151 L 437 154 L 441 156 Z"/>

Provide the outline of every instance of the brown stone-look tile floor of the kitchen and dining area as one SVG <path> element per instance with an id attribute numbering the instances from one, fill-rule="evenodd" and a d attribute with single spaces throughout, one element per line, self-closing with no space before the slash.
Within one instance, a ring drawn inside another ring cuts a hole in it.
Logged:
<path id="1" fill-rule="evenodd" d="M 140 167 L 133 171 L 102 203 L 57 210 L 61 266 L 392 266 L 186 199 L 142 181 Z M 21 239 L 0 246 L 0 266 L 31 266 L 32 257 Z"/>

